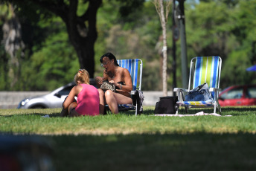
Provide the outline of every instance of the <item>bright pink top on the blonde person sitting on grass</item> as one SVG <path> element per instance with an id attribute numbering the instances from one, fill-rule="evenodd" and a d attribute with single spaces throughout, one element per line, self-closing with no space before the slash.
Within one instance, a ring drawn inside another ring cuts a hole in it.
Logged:
<path id="1" fill-rule="evenodd" d="M 95 86 L 80 84 L 83 89 L 77 95 L 76 112 L 83 115 L 95 116 L 100 114 L 100 97 Z"/>

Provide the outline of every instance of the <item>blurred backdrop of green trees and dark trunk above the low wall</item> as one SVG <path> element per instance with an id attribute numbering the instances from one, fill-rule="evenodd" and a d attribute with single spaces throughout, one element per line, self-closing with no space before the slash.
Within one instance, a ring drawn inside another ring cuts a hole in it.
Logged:
<path id="1" fill-rule="evenodd" d="M 0 91 L 52 91 L 70 83 L 82 67 L 90 77 L 100 76 L 99 59 L 106 52 L 118 59 L 142 59 L 142 91 L 162 90 L 162 29 L 152 1 L 73 1 L 74 20 L 67 18 L 72 1 L 0 2 Z M 175 3 L 178 8 L 179 1 Z M 256 72 L 246 71 L 256 65 L 256 0 L 184 3 L 188 68 L 193 57 L 220 56 L 220 88 L 256 83 Z M 182 87 L 181 40 L 176 39 L 174 51 L 172 5 L 167 19 L 167 91 L 173 90 L 174 71 L 176 86 Z M 72 23 L 78 38 L 72 36 Z"/>

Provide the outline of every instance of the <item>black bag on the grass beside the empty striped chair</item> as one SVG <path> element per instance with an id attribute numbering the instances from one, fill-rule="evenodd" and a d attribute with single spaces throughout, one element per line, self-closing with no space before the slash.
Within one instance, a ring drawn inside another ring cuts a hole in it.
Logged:
<path id="1" fill-rule="evenodd" d="M 155 114 L 175 114 L 178 106 L 176 102 L 178 97 L 166 96 L 160 97 L 156 103 Z"/>

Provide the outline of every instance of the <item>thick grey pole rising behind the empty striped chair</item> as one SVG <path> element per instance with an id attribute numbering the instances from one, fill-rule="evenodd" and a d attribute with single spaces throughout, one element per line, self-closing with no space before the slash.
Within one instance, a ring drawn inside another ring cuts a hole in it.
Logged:
<path id="1" fill-rule="evenodd" d="M 182 48 L 182 87 L 188 88 L 188 57 L 187 57 L 187 43 L 185 32 L 185 13 L 184 13 L 184 1 L 179 1 L 179 12 L 177 18 L 179 19 L 179 33 Z"/>

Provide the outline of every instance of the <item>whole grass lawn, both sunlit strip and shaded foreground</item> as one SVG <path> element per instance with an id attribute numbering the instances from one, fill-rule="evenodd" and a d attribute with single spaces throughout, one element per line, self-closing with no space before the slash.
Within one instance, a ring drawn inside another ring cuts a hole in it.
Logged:
<path id="1" fill-rule="evenodd" d="M 223 108 L 223 117 L 155 117 L 153 109 L 74 118 L 0 109 L 0 132 L 48 141 L 56 170 L 256 170 L 255 106 Z"/>

